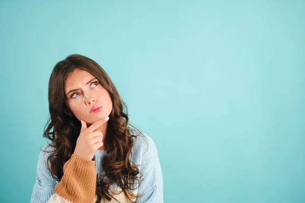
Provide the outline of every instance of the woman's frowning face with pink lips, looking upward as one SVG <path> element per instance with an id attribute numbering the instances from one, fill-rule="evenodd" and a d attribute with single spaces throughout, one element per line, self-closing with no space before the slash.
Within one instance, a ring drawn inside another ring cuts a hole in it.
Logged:
<path id="1" fill-rule="evenodd" d="M 108 91 L 89 72 L 75 69 L 65 81 L 65 103 L 69 110 L 66 114 L 83 119 L 92 124 L 110 115 L 112 101 Z M 72 91 L 71 91 L 72 90 Z M 90 113 L 92 107 L 102 106 L 100 112 Z"/>

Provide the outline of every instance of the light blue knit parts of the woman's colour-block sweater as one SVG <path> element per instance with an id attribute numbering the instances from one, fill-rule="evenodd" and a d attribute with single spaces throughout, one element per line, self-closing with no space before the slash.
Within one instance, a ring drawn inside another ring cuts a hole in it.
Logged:
<path id="1" fill-rule="evenodd" d="M 138 188 L 138 194 L 144 194 L 142 197 L 138 197 L 137 203 L 159 203 L 163 202 L 163 176 L 161 171 L 161 165 L 158 157 L 157 147 L 149 136 L 143 133 L 143 136 L 138 136 L 136 142 L 134 143 L 132 149 L 132 161 L 139 165 L 138 168 L 140 173 L 143 174 L 140 179 L 140 185 Z M 134 138 L 133 138 L 134 139 Z M 148 141 L 148 142 L 147 142 Z M 50 141 L 49 141 L 50 142 Z M 46 150 L 47 144 L 43 147 Z M 100 178 L 100 170 L 104 150 L 98 150 L 95 153 L 95 168 Z M 36 181 L 33 188 L 33 193 L 31 197 L 31 203 L 45 203 L 50 197 L 55 193 L 54 187 L 58 181 L 54 180 L 51 173 L 47 170 L 46 159 L 50 153 L 40 152 L 37 163 Z M 50 164 L 49 164 L 50 165 Z M 138 175 L 138 177 L 140 174 Z M 136 188 L 137 185 L 134 187 Z M 118 188 L 115 183 L 111 188 Z M 49 201 L 49 202 L 62 202 L 62 201 Z M 66 201 L 65 202 L 70 202 Z M 85 202 L 84 202 L 85 203 Z M 91 202 L 89 202 L 91 203 Z"/>

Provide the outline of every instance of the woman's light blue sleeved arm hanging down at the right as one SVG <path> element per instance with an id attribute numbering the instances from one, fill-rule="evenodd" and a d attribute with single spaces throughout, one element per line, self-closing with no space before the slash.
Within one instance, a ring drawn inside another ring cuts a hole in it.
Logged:
<path id="1" fill-rule="evenodd" d="M 137 203 L 163 203 L 163 176 L 157 147 L 150 137 L 148 139 L 148 149 L 143 153 L 142 166 L 140 172 L 143 174 L 139 184 L 139 194 L 144 194 L 137 198 Z"/>

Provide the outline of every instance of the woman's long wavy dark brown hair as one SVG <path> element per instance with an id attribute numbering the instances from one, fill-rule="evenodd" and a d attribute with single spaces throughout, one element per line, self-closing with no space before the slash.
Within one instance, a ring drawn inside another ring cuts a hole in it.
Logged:
<path id="1" fill-rule="evenodd" d="M 129 195 L 135 198 L 142 196 L 135 196 L 128 190 L 133 190 L 132 186 L 139 184 L 142 174 L 137 165 L 129 159 L 132 155 L 133 138 L 137 139 L 137 136 L 131 133 L 133 129 L 128 126 L 131 124 L 129 123 L 127 105 L 104 69 L 94 60 L 80 54 L 69 55 L 66 59 L 56 63 L 50 76 L 48 92 L 50 118 L 45 125 L 43 134 L 44 138 L 51 140 L 49 146 L 54 148 L 54 151 L 47 158 L 47 162 L 50 162 L 50 166 L 47 164 L 48 170 L 55 180 L 62 179 L 63 166 L 73 154 L 80 133 L 81 123 L 79 120 L 75 116 L 71 117 L 64 113 L 64 109 L 67 109 L 64 83 L 67 76 L 76 68 L 85 70 L 97 78 L 99 83 L 109 92 L 113 106 L 107 124 L 107 136 L 105 136 L 104 141 L 106 153 L 102 163 L 105 173 L 103 176 L 106 176 L 108 180 L 97 179 L 96 202 L 100 202 L 102 198 L 107 200 L 111 200 L 111 197 L 114 198 L 108 192 L 113 183 L 117 183 L 129 199 Z M 52 127 L 53 131 L 50 132 Z M 139 135 L 142 134 L 140 130 L 138 131 Z M 137 177 L 138 174 L 141 177 Z M 131 184 L 131 180 L 133 180 L 133 184 Z M 132 200 L 130 199 L 130 201 Z"/>

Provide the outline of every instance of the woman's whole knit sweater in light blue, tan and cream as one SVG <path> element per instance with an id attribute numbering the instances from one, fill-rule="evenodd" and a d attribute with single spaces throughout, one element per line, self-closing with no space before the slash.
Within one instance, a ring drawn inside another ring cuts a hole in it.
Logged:
<path id="1" fill-rule="evenodd" d="M 94 203 L 97 200 L 96 183 L 97 178 L 101 178 L 100 170 L 103 173 L 102 162 L 105 150 L 97 150 L 95 160 L 87 160 L 72 154 L 64 164 L 64 175 L 60 182 L 52 178 L 46 165 L 47 157 L 51 154 L 49 151 L 53 148 L 46 144 L 43 150 L 48 152 L 41 151 L 39 154 L 36 181 L 30 203 Z M 142 177 L 138 175 L 140 184 L 135 184 L 129 191 L 133 194 L 144 195 L 137 199 L 132 196 L 130 198 L 137 203 L 163 203 L 163 176 L 158 151 L 153 139 L 147 134 L 137 136 L 132 148 L 131 160 L 138 165 Z M 109 192 L 119 202 L 130 202 L 117 183 L 111 185 Z M 102 199 L 101 202 L 118 201 L 112 198 L 110 201 Z"/>

